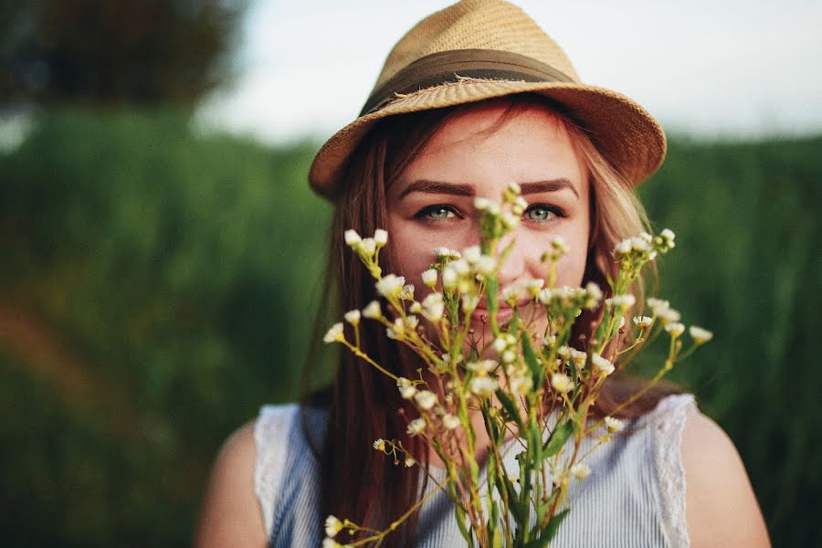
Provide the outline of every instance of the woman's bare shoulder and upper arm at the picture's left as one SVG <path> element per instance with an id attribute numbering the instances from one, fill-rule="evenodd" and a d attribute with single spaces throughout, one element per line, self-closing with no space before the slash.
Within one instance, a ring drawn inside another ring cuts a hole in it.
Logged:
<path id="1" fill-rule="evenodd" d="M 265 546 L 265 525 L 254 489 L 257 448 L 251 421 L 228 437 L 205 488 L 196 548 Z"/>

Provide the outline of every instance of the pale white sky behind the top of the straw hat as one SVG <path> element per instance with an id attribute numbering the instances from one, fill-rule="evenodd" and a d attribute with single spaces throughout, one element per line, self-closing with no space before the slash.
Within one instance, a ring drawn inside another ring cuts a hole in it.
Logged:
<path id="1" fill-rule="evenodd" d="M 199 124 L 264 142 L 324 140 L 360 111 L 385 56 L 444 0 L 256 0 L 239 78 Z M 522 0 L 585 83 L 626 93 L 668 132 L 822 133 L 818 0 Z"/>

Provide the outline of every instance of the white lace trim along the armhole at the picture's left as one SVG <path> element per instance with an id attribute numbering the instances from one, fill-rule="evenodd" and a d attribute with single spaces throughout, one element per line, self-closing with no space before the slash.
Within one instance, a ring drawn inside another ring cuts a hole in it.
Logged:
<path id="1" fill-rule="evenodd" d="M 279 479 L 285 468 L 286 452 L 283 439 L 288 437 L 297 406 L 263 406 L 254 425 L 257 458 L 254 464 L 254 490 L 257 492 L 266 537 L 271 537 L 274 521 L 274 499 L 279 490 Z"/>

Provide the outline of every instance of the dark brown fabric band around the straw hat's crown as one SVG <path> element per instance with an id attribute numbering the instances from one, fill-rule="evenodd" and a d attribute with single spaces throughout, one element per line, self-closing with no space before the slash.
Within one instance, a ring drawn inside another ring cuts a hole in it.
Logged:
<path id="1" fill-rule="evenodd" d="M 526 82 L 574 82 L 542 61 L 498 49 L 451 49 L 432 53 L 397 72 L 374 90 L 360 116 L 379 111 L 398 94 L 412 93 L 463 78 Z"/>

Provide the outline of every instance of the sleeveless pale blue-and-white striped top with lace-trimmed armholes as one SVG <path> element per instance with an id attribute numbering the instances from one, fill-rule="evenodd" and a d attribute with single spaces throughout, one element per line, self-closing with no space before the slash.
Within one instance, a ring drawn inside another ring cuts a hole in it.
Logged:
<path id="1" fill-rule="evenodd" d="M 614 436 L 586 458 L 592 473 L 570 490 L 571 511 L 551 547 L 687 548 L 680 440 L 692 408 L 692 395 L 670 395 L 655 410 L 630 421 L 625 430 L 630 434 Z M 312 412 L 310 424 L 321 438 L 324 414 Z M 320 468 L 302 431 L 299 407 L 264 406 L 255 439 L 255 487 L 269 546 L 320 546 L 325 519 L 319 512 Z M 586 439 L 582 452 L 594 442 Z M 506 469 L 516 473 L 517 451 L 502 451 Z M 439 469 L 432 473 L 435 478 L 444 475 Z M 452 504 L 447 495 L 437 493 L 423 507 L 420 548 L 465 545 Z"/>

